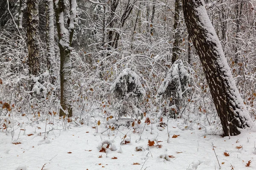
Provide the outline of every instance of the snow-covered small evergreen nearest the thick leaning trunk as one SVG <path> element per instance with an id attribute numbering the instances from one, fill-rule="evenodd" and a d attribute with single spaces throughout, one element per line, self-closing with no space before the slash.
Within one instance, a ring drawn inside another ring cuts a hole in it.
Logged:
<path id="1" fill-rule="evenodd" d="M 191 79 L 182 60 L 175 61 L 157 91 L 157 102 L 160 103 L 163 114 L 170 113 L 170 117 L 176 117 L 191 89 Z"/>

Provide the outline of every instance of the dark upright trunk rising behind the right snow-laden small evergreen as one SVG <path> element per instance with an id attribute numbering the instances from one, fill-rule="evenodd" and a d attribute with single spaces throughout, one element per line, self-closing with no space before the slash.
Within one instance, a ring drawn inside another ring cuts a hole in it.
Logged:
<path id="1" fill-rule="evenodd" d="M 182 45 L 182 35 L 181 35 L 181 11 L 182 3 L 181 0 L 175 0 L 175 15 L 174 15 L 174 42 L 172 48 L 172 64 L 180 58 L 181 55 L 181 45 Z"/>

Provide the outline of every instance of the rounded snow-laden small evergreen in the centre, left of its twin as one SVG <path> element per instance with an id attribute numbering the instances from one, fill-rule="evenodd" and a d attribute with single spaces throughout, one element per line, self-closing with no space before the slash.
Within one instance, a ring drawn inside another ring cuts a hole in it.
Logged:
<path id="1" fill-rule="evenodd" d="M 139 76 L 131 69 L 125 68 L 111 86 L 115 97 L 113 109 L 121 116 L 140 116 L 140 104 L 145 97 L 145 90 Z"/>

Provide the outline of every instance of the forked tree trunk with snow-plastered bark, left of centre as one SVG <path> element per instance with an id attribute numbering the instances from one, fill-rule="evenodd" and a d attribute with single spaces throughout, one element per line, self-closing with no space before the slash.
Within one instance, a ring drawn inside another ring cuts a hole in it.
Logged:
<path id="1" fill-rule="evenodd" d="M 65 10 L 65 0 L 55 0 L 54 1 L 56 23 L 58 30 L 58 46 L 60 48 L 61 57 L 61 108 L 60 116 L 68 114 L 72 116 L 72 78 L 71 78 L 71 59 L 70 52 L 72 51 L 71 42 L 74 33 L 74 20 L 77 15 L 77 3 L 76 0 L 70 0 L 70 12 L 68 15 L 67 25 L 65 28 L 64 22 L 64 10 Z"/>

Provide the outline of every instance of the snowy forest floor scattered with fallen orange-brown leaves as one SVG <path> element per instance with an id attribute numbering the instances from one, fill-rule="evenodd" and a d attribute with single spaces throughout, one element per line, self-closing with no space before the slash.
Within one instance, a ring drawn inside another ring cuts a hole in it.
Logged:
<path id="1" fill-rule="evenodd" d="M 98 126 L 97 117 L 96 123 L 86 125 L 64 124 L 58 116 L 53 124 L 32 118 L 14 116 L 13 127 L 7 131 L 1 127 L 0 170 L 218 170 L 219 164 L 221 170 L 256 169 L 256 132 L 252 131 L 229 139 L 214 134 L 214 126 L 186 125 L 183 119 L 169 119 L 168 128 L 159 126 L 167 123 L 164 118 L 111 130 L 105 122 Z M 99 152 L 102 141 L 113 142 L 106 153 Z"/>

